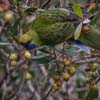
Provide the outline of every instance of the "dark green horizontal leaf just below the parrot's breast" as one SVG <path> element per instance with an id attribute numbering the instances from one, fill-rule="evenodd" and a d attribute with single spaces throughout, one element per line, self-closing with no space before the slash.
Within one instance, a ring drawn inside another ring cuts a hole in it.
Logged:
<path id="1" fill-rule="evenodd" d="M 33 56 L 32 60 L 40 64 L 46 64 L 54 60 L 54 58 L 50 56 L 49 54 L 39 54 L 37 56 Z"/>

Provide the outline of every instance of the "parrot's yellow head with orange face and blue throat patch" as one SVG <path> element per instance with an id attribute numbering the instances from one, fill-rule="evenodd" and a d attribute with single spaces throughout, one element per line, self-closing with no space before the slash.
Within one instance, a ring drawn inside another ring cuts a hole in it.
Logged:
<path id="1" fill-rule="evenodd" d="M 19 39 L 19 43 L 26 49 L 31 50 L 40 45 L 40 40 L 36 32 L 32 30 L 23 34 Z"/>

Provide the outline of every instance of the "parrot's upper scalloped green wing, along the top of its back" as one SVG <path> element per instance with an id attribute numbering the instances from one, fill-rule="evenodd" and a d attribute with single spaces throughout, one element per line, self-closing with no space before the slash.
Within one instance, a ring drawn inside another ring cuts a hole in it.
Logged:
<path id="1" fill-rule="evenodd" d="M 70 16 L 70 12 L 64 8 L 57 8 L 53 10 L 46 10 L 42 12 L 33 22 L 32 27 L 50 25 L 54 23 L 65 22 Z M 42 25 L 41 25 L 42 24 Z"/>

